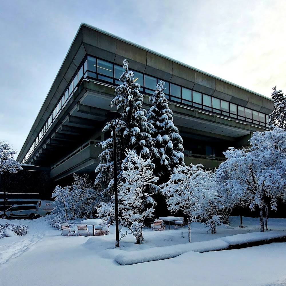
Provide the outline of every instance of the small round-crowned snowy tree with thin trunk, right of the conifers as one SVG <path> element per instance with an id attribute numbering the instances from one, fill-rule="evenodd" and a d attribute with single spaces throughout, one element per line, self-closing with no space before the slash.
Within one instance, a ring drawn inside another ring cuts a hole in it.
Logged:
<path id="1" fill-rule="evenodd" d="M 167 183 L 161 185 L 166 195 L 169 210 L 181 209 L 188 219 L 188 240 L 191 242 L 191 222 L 196 221 L 206 200 L 215 198 L 215 183 L 202 169 L 202 165 L 178 166 Z"/>

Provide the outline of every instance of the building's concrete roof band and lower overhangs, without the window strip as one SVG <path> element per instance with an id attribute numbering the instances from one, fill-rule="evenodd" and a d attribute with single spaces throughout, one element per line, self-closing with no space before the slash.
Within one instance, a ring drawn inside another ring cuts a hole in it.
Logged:
<path id="1" fill-rule="evenodd" d="M 94 171 L 100 153 L 94 144 L 104 139 L 102 128 L 106 122 L 105 113 L 112 110 L 110 101 L 114 98 L 114 83 L 81 79 L 53 123 L 45 130 L 39 142 L 34 143 L 86 55 L 118 65 L 122 65 L 122 60 L 127 58 L 130 70 L 254 111 L 265 114 L 273 111 L 273 101 L 269 98 L 82 24 L 17 158 L 19 162 L 25 160 L 23 163 L 51 168 L 51 178 L 54 180 L 73 172 Z M 146 109 L 150 107 L 148 97 L 144 97 Z M 258 124 L 190 107 L 182 102 L 170 101 L 169 107 L 174 113 L 174 124 L 184 141 L 197 140 L 198 146 L 213 141 L 225 149 L 228 144 L 241 147 L 247 144 L 253 132 L 266 129 Z M 35 147 L 31 151 L 33 144 Z M 184 148 L 188 150 L 188 146 Z M 31 154 L 26 156 L 29 150 Z M 223 160 L 217 154 L 213 158 L 208 154 L 193 154 L 194 152 L 186 154 L 186 162 L 203 160 L 207 168 L 214 168 Z"/>

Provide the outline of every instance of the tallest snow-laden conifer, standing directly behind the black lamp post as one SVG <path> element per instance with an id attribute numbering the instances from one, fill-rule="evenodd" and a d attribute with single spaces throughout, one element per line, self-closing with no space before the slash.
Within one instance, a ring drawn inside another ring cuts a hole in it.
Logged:
<path id="1" fill-rule="evenodd" d="M 150 135 L 154 128 L 147 122 L 146 109 L 142 108 L 143 95 L 139 92 L 140 84 L 134 83 L 133 72 L 128 68 L 128 60 L 123 60 L 124 73 L 120 77 L 122 85 L 116 87 L 116 97 L 112 99 L 111 106 L 116 106 L 122 110 L 122 117 L 116 128 L 117 140 L 117 164 L 118 180 L 122 172 L 122 163 L 126 160 L 125 150 L 131 149 L 141 155 L 142 158 L 148 158 L 150 155 L 149 148 L 154 145 Z M 111 132 L 112 126 L 107 123 L 103 132 Z M 102 195 L 111 196 L 113 194 L 113 139 L 97 144 L 103 151 L 98 156 L 100 164 L 96 167 L 98 173 L 95 184 L 104 187 Z"/>

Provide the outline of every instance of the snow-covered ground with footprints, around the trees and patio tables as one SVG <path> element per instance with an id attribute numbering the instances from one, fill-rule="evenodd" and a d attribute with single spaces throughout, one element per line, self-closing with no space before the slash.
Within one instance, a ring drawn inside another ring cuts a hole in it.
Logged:
<path id="1" fill-rule="evenodd" d="M 146 229 L 143 245 L 126 236 L 115 249 L 113 227 L 106 236 L 65 237 L 44 218 L 10 222 L 27 224 L 30 231 L 23 237 L 0 239 L 0 285 L 286 285 L 284 242 L 237 250 L 190 251 L 172 259 L 119 265 L 115 258 L 124 253 L 136 256 L 140 250 L 152 252 L 160 246 L 188 244 L 187 228 Z M 231 226 L 206 234 L 204 226 L 194 223 L 191 240 L 203 242 L 259 231 L 257 218 L 244 218 L 246 228 L 238 225 L 235 217 Z M 285 219 L 269 219 L 268 225 L 270 230 L 286 230 Z"/>

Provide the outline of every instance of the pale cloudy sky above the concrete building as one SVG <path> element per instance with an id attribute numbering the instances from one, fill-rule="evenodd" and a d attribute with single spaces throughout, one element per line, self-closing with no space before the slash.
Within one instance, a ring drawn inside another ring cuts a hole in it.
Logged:
<path id="1" fill-rule="evenodd" d="M 286 92 L 286 1 L 11 0 L 0 6 L 0 140 L 21 147 L 81 22 L 265 96 Z"/>

